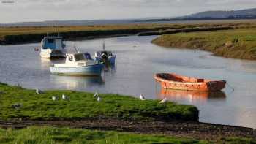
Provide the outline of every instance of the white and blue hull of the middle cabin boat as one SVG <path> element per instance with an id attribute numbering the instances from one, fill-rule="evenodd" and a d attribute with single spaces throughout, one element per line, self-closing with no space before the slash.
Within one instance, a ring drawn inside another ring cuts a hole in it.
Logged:
<path id="1" fill-rule="evenodd" d="M 50 67 L 54 75 L 101 75 L 103 64 L 95 64 L 83 67 Z"/>

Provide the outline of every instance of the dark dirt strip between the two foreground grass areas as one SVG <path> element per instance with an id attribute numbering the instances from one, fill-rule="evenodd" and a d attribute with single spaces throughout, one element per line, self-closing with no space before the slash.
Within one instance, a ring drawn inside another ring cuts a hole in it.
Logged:
<path id="1" fill-rule="evenodd" d="M 0 127 L 22 129 L 27 126 L 67 126 L 71 128 L 113 130 L 119 132 L 136 132 L 141 134 L 165 134 L 177 137 L 193 137 L 200 140 L 219 141 L 222 137 L 253 137 L 254 129 L 206 124 L 197 122 L 162 122 L 162 121 L 124 121 L 111 118 L 88 118 L 64 121 L 0 121 Z"/>

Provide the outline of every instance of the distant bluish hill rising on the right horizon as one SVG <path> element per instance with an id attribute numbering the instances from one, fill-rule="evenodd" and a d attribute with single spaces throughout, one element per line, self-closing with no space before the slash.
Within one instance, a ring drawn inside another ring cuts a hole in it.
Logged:
<path id="1" fill-rule="evenodd" d="M 192 15 L 185 15 L 176 18 L 159 18 L 148 21 L 167 21 L 167 20 L 225 20 L 225 19 L 256 19 L 256 8 L 246 10 L 230 10 L 230 11 L 205 11 Z"/>

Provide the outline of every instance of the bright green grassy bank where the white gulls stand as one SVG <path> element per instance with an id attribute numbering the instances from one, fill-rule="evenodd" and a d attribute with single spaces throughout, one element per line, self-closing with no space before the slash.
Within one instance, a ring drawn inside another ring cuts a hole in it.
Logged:
<path id="1" fill-rule="evenodd" d="M 97 102 L 94 94 L 78 91 L 45 91 L 36 94 L 35 90 L 0 84 L 0 118 L 23 119 L 83 119 L 83 118 L 132 118 L 136 120 L 173 119 L 198 121 L 198 110 L 194 106 L 178 105 L 157 100 L 141 101 L 131 96 L 100 94 Z M 66 94 L 70 100 L 61 99 Z M 59 96 L 53 101 L 52 96 Z M 12 105 L 20 104 L 18 108 Z"/>

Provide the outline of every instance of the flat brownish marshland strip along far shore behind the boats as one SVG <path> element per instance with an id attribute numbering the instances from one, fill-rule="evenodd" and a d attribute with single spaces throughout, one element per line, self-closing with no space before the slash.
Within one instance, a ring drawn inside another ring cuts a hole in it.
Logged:
<path id="1" fill-rule="evenodd" d="M 251 21 L 216 21 L 211 23 L 179 23 L 179 24 L 123 24 L 105 26 L 57 26 L 54 32 L 59 32 L 64 39 L 78 37 L 109 37 L 127 34 L 166 34 L 181 31 L 203 31 L 209 29 L 237 29 L 256 26 Z M 37 27 L 0 27 L 0 45 L 12 45 L 25 42 L 39 42 L 53 28 Z"/>

